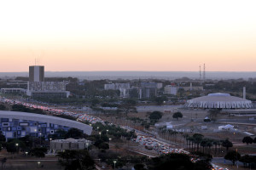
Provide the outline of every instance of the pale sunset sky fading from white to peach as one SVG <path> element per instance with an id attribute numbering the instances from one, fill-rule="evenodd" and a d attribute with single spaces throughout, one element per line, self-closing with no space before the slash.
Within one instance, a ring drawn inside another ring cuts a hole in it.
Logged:
<path id="1" fill-rule="evenodd" d="M 256 71 L 256 1 L 0 1 L 0 72 Z"/>

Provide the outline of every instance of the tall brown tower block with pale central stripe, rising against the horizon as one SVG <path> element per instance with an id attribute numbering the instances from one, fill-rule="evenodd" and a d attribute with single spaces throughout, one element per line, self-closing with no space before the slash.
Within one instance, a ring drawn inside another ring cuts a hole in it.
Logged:
<path id="1" fill-rule="evenodd" d="M 44 82 L 44 66 L 29 66 L 29 82 Z"/>

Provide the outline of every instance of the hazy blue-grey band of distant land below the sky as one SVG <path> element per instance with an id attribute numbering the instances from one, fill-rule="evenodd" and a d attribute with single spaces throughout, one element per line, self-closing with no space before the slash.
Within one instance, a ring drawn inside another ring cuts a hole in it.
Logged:
<path id="1" fill-rule="evenodd" d="M 28 77 L 24 72 L 0 72 L 0 77 Z M 45 71 L 45 77 L 78 77 L 79 79 L 166 79 L 174 80 L 181 77 L 199 79 L 199 71 Z M 239 79 L 256 78 L 256 71 L 207 71 L 207 79 Z"/>

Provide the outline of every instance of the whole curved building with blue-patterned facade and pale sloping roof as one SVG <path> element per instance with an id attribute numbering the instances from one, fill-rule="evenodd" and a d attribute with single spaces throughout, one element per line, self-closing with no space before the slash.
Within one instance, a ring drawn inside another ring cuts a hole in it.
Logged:
<path id="1" fill-rule="evenodd" d="M 54 134 L 57 129 L 67 131 L 70 127 L 78 128 L 89 135 L 92 132 L 92 127 L 81 122 L 26 112 L 0 111 L 0 120 L 0 130 L 6 139 L 26 135 L 48 138 L 48 135 Z"/>

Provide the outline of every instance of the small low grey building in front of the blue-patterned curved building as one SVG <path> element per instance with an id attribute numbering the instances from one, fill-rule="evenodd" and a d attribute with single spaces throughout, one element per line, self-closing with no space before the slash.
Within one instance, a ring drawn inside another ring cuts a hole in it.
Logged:
<path id="1" fill-rule="evenodd" d="M 88 149 L 91 141 L 86 139 L 56 139 L 50 141 L 49 149 L 56 150 L 84 150 Z"/>

